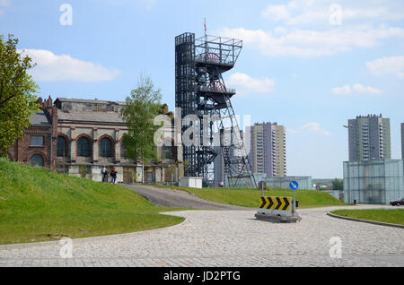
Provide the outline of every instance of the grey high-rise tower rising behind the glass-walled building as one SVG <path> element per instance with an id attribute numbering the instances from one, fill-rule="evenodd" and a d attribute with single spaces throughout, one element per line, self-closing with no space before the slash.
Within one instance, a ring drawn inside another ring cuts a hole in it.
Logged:
<path id="1" fill-rule="evenodd" d="M 390 119 L 359 116 L 348 120 L 349 161 L 391 160 Z"/>

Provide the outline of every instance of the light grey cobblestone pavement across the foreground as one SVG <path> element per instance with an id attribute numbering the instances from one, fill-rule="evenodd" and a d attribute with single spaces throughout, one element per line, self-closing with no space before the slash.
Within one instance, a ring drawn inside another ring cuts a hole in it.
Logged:
<path id="1" fill-rule="evenodd" d="M 57 242 L 0 246 L 0 266 L 403 266 L 404 229 L 340 220 L 330 210 L 300 210 L 303 220 L 256 220 L 254 211 L 170 212 L 180 225 L 126 235 L 73 240 L 73 258 Z M 356 208 L 374 208 L 357 206 Z M 330 258 L 339 237 L 342 258 Z"/>

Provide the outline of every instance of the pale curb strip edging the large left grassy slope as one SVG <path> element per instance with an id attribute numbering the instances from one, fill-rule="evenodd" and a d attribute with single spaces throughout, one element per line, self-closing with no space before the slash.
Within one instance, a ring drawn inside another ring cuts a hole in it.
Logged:
<path id="1" fill-rule="evenodd" d="M 89 237 L 89 238 L 72 238 L 74 243 L 80 244 L 86 241 L 98 241 L 98 240 L 103 240 L 103 239 L 111 239 L 111 238 L 130 238 L 130 237 L 136 237 L 140 235 L 146 235 L 155 231 L 162 231 L 165 229 L 172 229 L 176 227 L 180 227 L 187 223 L 189 220 L 186 217 L 180 216 L 180 215 L 171 215 L 170 213 L 172 212 L 161 212 L 162 215 L 168 215 L 168 216 L 176 216 L 180 218 L 184 218 L 185 220 L 180 222 L 177 225 L 173 225 L 171 227 L 165 227 L 165 228 L 160 228 L 160 229 L 149 229 L 149 230 L 143 230 L 143 231 L 136 231 L 136 232 L 131 232 L 131 233 L 125 233 L 125 234 L 117 234 L 117 235 L 109 235 L 109 236 L 100 236 L 100 237 Z M 66 237 L 64 237 L 66 238 Z M 52 240 L 52 241 L 42 241 L 38 243 L 27 243 L 27 244 L 11 244 L 11 245 L 0 245 L 0 250 L 8 250 L 8 249 L 23 249 L 23 248 L 31 248 L 31 247 L 36 247 L 36 246 L 60 246 L 59 244 L 60 240 Z"/>

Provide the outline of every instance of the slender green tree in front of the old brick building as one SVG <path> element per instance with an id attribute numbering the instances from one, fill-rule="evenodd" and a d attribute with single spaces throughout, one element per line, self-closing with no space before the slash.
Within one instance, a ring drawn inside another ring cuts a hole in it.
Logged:
<path id="1" fill-rule="evenodd" d="M 157 160 L 154 134 L 160 126 L 154 125 L 154 117 L 162 108 L 161 99 L 161 90 L 155 90 L 150 77 L 141 74 L 137 88 L 130 92 L 126 106 L 121 110 L 128 127 L 128 133 L 123 136 L 127 155 L 134 160 L 143 160 L 144 164 Z"/>

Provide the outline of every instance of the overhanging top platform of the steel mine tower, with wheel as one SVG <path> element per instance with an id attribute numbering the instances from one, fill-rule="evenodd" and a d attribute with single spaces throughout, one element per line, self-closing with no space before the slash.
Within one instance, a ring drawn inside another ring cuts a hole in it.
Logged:
<path id="1" fill-rule="evenodd" d="M 195 48 L 196 62 L 233 67 L 242 51 L 242 40 L 206 35 L 195 39 Z"/>

